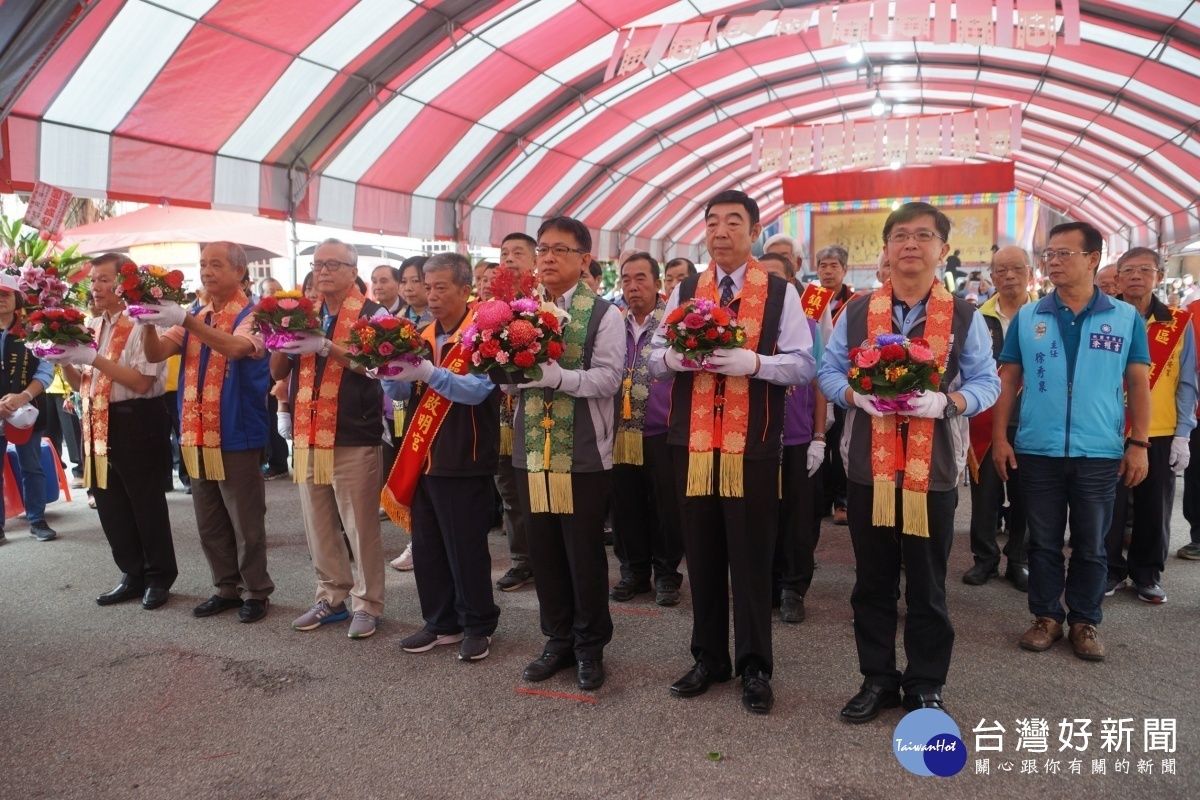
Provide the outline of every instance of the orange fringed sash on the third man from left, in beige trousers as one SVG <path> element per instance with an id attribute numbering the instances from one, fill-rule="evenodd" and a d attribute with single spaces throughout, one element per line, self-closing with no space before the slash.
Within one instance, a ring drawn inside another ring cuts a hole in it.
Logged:
<path id="1" fill-rule="evenodd" d="M 350 341 L 350 327 L 359 321 L 365 299 L 358 287 L 350 287 L 350 293 L 342 301 L 337 312 L 337 323 L 330 339 L 337 344 Z M 325 359 L 325 368 L 320 375 L 320 389 L 317 383 L 317 354 L 300 356 L 300 378 L 296 381 L 296 402 L 294 409 L 292 471 L 296 483 L 308 480 L 308 458 L 313 449 L 312 482 L 331 486 L 334 483 L 334 441 L 337 438 L 337 392 L 342 387 L 343 367 L 332 356 Z M 317 392 L 313 402 L 313 392 Z"/>

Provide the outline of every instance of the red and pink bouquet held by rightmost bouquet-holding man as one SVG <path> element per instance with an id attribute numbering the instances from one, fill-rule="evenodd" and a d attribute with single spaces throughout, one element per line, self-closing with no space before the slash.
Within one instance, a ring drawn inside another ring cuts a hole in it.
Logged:
<path id="1" fill-rule="evenodd" d="M 874 395 L 881 411 L 908 410 L 913 396 L 941 387 L 946 371 L 934 360 L 929 342 L 900 333 L 881 333 L 874 344 L 852 349 L 850 363 L 850 387 Z"/>

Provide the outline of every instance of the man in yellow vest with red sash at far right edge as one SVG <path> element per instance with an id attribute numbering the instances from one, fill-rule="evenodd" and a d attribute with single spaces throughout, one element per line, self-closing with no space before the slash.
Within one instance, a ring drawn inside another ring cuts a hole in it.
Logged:
<path id="1" fill-rule="evenodd" d="M 1169 308 L 1154 296 L 1166 270 L 1158 253 L 1134 247 L 1117 259 L 1117 283 L 1124 300 L 1146 320 L 1150 344 L 1150 453 L 1146 480 L 1129 489 L 1117 485 L 1109 525 L 1109 581 L 1105 596 L 1133 583 L 1139 600 L 1159 604 L 1166 593 L 1159 585 L 1171 541 L 1175 473 L 1192 461 L 1189 437 L 1196 427 L 1196 347 L 1190 314 Z M 1133 495 L 1133 534 L 1128 559 L 1122 553 L 1126 517 Z"/>

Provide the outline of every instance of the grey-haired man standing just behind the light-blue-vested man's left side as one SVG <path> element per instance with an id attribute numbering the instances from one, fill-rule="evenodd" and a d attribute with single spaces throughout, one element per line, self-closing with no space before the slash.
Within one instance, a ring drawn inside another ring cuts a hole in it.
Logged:
<path id="1" fill-rule="evenodd" d="M 991 281 L 996 285 L 996 294 L 979 307 L 979 314 L 991 333 L 991 353 L 997 363 L 1009 324 L 1021 306 L 1034 299 L 1030 294 L 1031 275 L 1030 259 L 1022 247 L 1001 247 L 991 257 Z M 1009 443 L 1015 435 L 1014 415 L 1008 423 Z M 1030 579 L 1025 548 L 1025 506 L 1021 504 L 1016 475 L 1012 475 L 1008 481 L 1000 480 L 988 455 L 990 447 L 991 414 L 984 411 L 971 417 L 971 553 L 974 554 L 974 566 L 962 576 L 962 583 L 980 587 L 1000 573 L 996 533 L 1000 527 L 1000 506 L 1007 492 L 1008 543 L 1004 546 L 1004 558 L 1008 559 L 1008 569 L 1004 570 L 1004 578 L 1025 591 Z"/>

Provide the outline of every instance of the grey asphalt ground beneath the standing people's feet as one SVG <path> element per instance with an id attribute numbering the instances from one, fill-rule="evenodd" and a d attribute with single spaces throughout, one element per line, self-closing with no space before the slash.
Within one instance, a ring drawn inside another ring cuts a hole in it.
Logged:
<path id="1" fill-rule="evenodd" d="M 839 720 L 860 676 L 853 555 L 847 529 L 828 521 L 808 620 L 774 622 L 775 709 L 755 716 L 742 709 L 733 681 L 686 700 L 667 693 L 691 663 L 686 583 L 676 608 L 660 609 L 646 595 L 613 603 L 608 680 L 598 692 L 580 692 L 572 670 L 528 685 L 521 670 L 544 640 L 532 587 L 496 593 L 499 630 L 479 663 L 457 661 L 452 646 L 400 650 L 421 619 L 413 573 L 390 569 L 373 638 L 347 638 L 346 622 L 292 631 L 314 578 L 296 488 L 283 481 L 266 485 L 277 588 L 265 620 L 192 616 L 211 593 L 182 492 L 168 495 L 180 565 L 170 602 L 154 612 L 136 602 L 101 608 L 94 597 L 119 575 L 77 492 L 49 507 L 58 541 L 37 542 L 11 519 L 0 548 L 0 798 L 1200 796 L 1192 693 L 1200 685 L 1200 563 L 1174 555 L 1187 541 L 1178 510 L 1163 581 L 1169 602 L 1150 606 L 1129 591 L 1108 600 L 1100 634 L 1109 657 L 1090 663 L 1066 642 L 1043 654 L 1018 649 L 1031 620 L 1025 595 L 1003 581 L 961 583 L 971 553 L 970 497 L 960 494 L 946 703 L 968 758 L 960 774 L 938 778 L 908 774 L 893 754 L 899 709 L 863 726 Z M 404 540 L 384 525 L 389 558 Z M 506 543 L 500 535 L 488 541 L 499 577 Z M 610 576 L 616 582 L 616 559 Z M 1045 752 L 1028 750 L 1036 739 L 1019 750 L 1018 720 L 1038 718 L 1048 722 Z M 1084 750 L 1061 750 L 1064 718 L 1091 720 Z M 1112 752 L 1103 721 L 1122 718 L 1132 733 Z M 1146 748 L 1147 718 L 1176 721 L 1174 752 Z M 1006 729 L 1000 752 L 977 748 L 995 744 L 977 741 L 980 722 Z M 1174 775 L 1163 774 L 1164 759 L 1174 759 Z M 1057 772 L 1048 774 L 1055 760 Z M 1146 764 L 1150 774 L 1139 774 Z"/>

